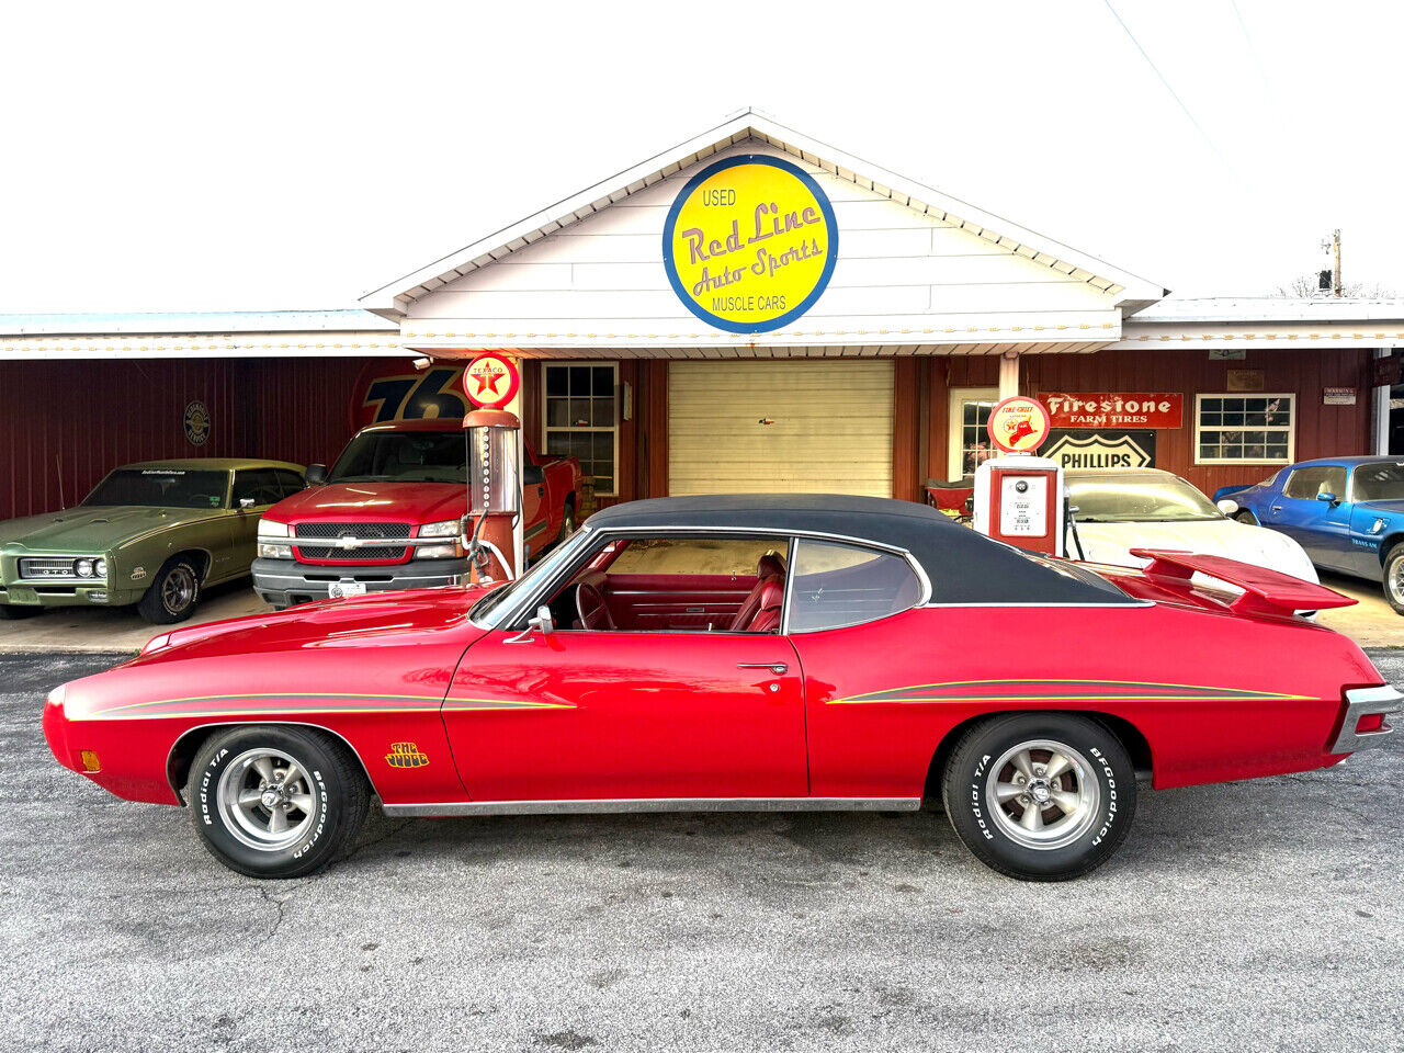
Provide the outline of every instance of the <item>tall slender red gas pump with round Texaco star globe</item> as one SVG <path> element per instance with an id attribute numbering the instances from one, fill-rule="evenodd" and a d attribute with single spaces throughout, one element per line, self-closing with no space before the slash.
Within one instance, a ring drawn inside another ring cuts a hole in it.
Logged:
<path id="1" fill-rule="evenodd" d="M 519 385 L 515 362 L 496 351 L 463 369 L 463 392 L 479 407 L 463 418 L 472 519 L 463 548 L 473 584 L 511 580 L 522 566 L 521 421 L 503 409 Z"/>

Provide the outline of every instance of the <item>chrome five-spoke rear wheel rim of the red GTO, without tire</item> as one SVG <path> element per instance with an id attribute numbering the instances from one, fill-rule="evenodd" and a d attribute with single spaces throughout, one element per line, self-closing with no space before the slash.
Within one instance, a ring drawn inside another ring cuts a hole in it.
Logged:
<path id="1" fill-rule="evenodd" d="M 1032 739 L 990 765 L 986 803 L 1011 841 L 1050 851 L 1073 844 L 1097 821 L 1102 785 L 1077 750 Z"/>

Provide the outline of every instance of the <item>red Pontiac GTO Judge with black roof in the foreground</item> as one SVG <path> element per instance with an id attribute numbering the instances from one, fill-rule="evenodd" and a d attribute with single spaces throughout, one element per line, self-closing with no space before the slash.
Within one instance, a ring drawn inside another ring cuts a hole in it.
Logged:
<path id="1" fill-rule="evenodd" d="M 159 636 L 55 689 L 44 729 L 256 876 L 329 862 L 378 795 L 396 816 L 939 800 L 994 869 L 1064 879 L 1120 844 L 1137 776 L 1324 768 L 1404 699 L 1294 614 L 1345 597 L 1143 555 L 1094 573 L 903 501 L 639 501 L 497 588 Z"/>

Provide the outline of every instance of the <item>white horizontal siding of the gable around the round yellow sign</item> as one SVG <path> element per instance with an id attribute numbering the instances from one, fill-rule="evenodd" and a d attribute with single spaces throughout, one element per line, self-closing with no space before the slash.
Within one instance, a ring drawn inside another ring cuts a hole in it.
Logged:
<path id="1" fill-rule="evenodd" d="M 736 153 L 785 156 L 748 142 L 716 157 Z M 792 330 L 844 334 L 844 343 L 858 330 L 962 327 L 984 333 L 1033 324 L 1036 317 L 1042 324 L 1098 330 L 1111 323 L 1105 338 L 1119 336 L 1112 296 L 1082 281 L 1081 272 L 1036 263 L 988 237 L 802 167 L 834 202 L 838 263 L 824 295 Z M 434 289 L 411 305 L 406 331 L 432 322 L 497 334 L 503 345 L 517 338 L 505 334 L 630 333 L 640 327 L 724 336 L 687 310 L 663 267 L 667 209 L 695 173 L 695 166 L 685 168 L 501 263 L 470 270 Z M 772 338 L 757 337 L 761 343 Z"/>

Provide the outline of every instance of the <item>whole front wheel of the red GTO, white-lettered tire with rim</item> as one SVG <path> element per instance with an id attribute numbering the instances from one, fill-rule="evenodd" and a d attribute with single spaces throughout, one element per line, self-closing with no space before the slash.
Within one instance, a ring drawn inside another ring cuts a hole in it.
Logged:
<path id="1" fill-rule="evenodd" d="M 257 802 L 236 803 L 240 793 L 260 789 L 267 792 Z M 371 790 L 359 762 L 336 739 L 303 727 L 254 724 L 216 734 L 201 747 L 185 800 L 199 840 L 230 870 L 300 878 L 350 847 L 365 823 Z"/>

